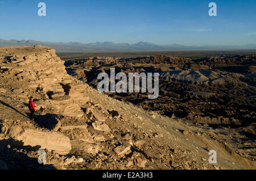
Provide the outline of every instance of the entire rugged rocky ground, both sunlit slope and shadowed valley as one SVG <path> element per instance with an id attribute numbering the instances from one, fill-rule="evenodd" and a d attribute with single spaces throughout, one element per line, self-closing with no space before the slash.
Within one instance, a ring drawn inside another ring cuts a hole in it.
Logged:
<path id="1" fill-rule="evenodd" d="M 48 47 L 0 48 L 0 169 L 255 169 L 253 64 L 255 56 L 64 62 Z M 91 86 L 111 67 L 160 72 L 159 100 L 100 94 Z"/>

